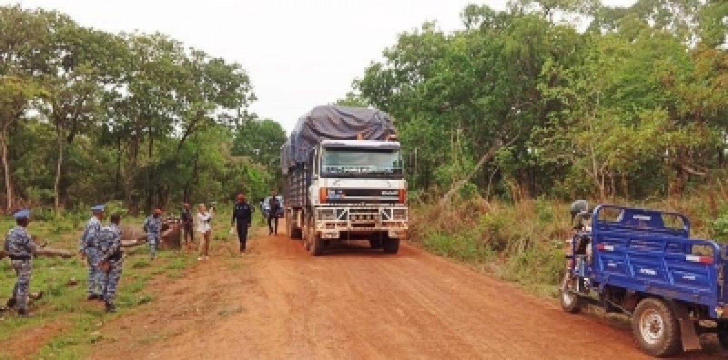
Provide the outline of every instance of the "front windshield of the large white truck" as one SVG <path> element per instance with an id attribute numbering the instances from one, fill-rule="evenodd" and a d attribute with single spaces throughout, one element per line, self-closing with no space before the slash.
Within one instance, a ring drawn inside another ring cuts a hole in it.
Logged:
<path id="1" fill-rule="evenodd" d="M 321 156 L 321 176 L 352 177 L 355 175 L 401 178 L 400 151 L 374 148 L 324 149 Z"/>

